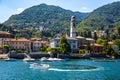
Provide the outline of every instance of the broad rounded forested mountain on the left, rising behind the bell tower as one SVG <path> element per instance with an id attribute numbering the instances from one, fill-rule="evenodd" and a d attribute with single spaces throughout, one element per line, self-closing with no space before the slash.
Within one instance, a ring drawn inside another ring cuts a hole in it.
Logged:
<path id="1" fill-rule="evenodd" d="M 79 23 L 88 16 L 88 13 L 72 12 L 58 6 L 40 4 L 24 10 L 21 14 L 12 15 L 4 25 L 17 28 L 44 28 L 46 32 L 52 34 L 66 33 L 69 31 L 72 15 L 76 16 Z"/>

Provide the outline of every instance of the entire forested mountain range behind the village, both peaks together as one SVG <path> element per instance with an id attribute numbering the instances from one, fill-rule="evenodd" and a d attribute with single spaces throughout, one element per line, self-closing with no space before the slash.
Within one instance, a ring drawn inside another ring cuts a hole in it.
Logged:
<path id="1" fill-rule="evenodd" d="M 39 37 L 55 37 L 57 33 L 69 33 L 72 15 L 76 16 L 78 35 L 86 37 L 95 29 L 120 27 L 120 2 L 104 5 L 91 13 L 40 4 L 11 16 L 4 25 L 10 26 L 21 37 L 30 38 L 36 34 Z"/>

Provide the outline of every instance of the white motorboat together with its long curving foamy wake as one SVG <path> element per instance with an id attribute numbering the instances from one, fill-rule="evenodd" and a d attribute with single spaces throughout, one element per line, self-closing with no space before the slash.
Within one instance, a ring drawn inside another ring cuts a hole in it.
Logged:
<path id="1" fill-rule="evenodd" d="M 30 68 L 32 69 L 40 69 L 40 70 L 49 70 L 49 71 L 98 71 L 104 70 L 103 67 L 98 66 L 89 66 L 89 65 L 72 65 L 72 64 L 64 64 L 59 68 L 53 68 L 49 64 L 38 64 L 33 63 L 30 64 Z"/>

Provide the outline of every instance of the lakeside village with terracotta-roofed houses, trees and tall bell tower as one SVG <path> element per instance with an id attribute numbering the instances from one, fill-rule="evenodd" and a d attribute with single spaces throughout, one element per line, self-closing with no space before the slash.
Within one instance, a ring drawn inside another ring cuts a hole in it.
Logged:
<path id="1" fill-rule="evenodd" d="M 109 41 L 105 31 L 91 33 L 97 40 L 76 36 L 76 20 L 71 17 L 70 36 L 58 35 L 51 40 L 41 38 L 15 38 L 13 34 L 0 31 L 0 58 L 12 57 L 22 59 L 24 53 L 32 58 L 59 57 L 72 59 L 118 58 L 120 40 Z M 5 56 L 4 56 L 5 55 Z M 23 56 L 24 55 L 24 56 Z"/>

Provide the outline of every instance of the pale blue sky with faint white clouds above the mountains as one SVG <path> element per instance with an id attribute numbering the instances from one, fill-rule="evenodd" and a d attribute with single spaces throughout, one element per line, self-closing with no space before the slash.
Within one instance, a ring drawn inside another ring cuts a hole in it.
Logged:
<path id="1" fill-rule="evenodd" d="M 29 7 L 42 3 L 72 11 L 92 12 L 98 7 L 116 1 L 120 0 L 0 0 L 0 23 L 8 20 L 11 15 L 19 14 Z"/>

